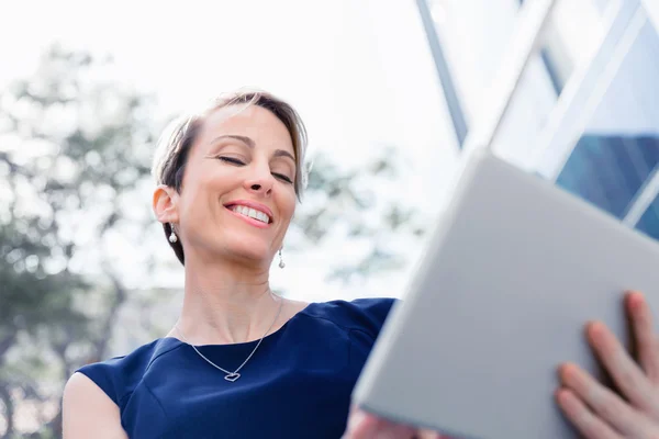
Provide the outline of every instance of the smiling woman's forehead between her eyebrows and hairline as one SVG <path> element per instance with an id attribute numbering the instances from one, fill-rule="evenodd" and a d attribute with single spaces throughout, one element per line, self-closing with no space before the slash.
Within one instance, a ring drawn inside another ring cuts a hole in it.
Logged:
<path id="1" fill-rule="evenodd" d="M 204 120 L 200 139 L 212 142 L 222 135 L 250 137 L 256 147 L 271 147 L 293 153 L 291 135 L 272 112 L 258 105 L 230 105 L 214 110 Z"/>

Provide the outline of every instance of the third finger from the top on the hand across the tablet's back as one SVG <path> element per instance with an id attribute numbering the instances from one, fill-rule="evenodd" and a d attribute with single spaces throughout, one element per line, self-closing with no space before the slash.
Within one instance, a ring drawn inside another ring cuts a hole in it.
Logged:
<path id="1" fill-rule="evenodd" d="M 600 384 L 576 364 L 566 364 L 559 371 L 566 390 L 585 403 L 605 424 L 625 437 L 647 437 L 654 428 L 651 421 L 623 401 L 611 390 Z"/>

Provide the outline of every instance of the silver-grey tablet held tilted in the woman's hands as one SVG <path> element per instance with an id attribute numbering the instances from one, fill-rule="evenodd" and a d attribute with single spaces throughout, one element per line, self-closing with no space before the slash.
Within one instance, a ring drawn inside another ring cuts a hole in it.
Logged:
<path id="1" fill-rule="evenodd" d="M 603 320 L 628 340 L 628 289 L 659 311 L 656 241 L 479 150 L 354 403 L 456 438 L 577 438 L 554 399 L 557 365 L 600 374 L 584 324 Z"/>

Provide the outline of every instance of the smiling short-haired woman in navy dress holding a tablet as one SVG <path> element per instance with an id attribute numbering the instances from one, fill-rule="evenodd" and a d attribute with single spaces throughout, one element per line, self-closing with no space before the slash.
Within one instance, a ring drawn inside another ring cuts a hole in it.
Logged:
<path id="1" fill-rule="evenodd" d="M 269 288 L 305 142 L 295 111 L 260 92 L 219 100 L 164 137 L 153 207 L 185 267 L 180 317 L 166 337 L 71 376 L 66 439 L 435 437 L 349 413 L 392 300 L 308 304 Z M 589 330 L 626 399 L 560 369 L 558 404 L 589 438 L 659 437 L 657 339 L 643 297 L 627 304 L 640 367 L 601 325 Z"/>

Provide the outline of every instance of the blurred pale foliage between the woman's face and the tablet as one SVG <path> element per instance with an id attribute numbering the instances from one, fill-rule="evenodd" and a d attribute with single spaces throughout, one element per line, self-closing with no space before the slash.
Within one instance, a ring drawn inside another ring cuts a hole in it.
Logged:
<path id="1" fill-rule="evenodd" d="M 358 257 L 337 260 L 326 279 L 344 285 L 401 270 L 405 258 L 393 238 L 414 243 L 425 227 L 421 212 L 400 202 L 396 185 L 409 170 L 399 158 L 394 148 L 383 147 L 365 167 L 340 169 L 327 155 L 315 157 L 289 233 L 299 238 L 287 247 L 304 251 L 327 241 L 349 244 L 346 254 Z"/>

